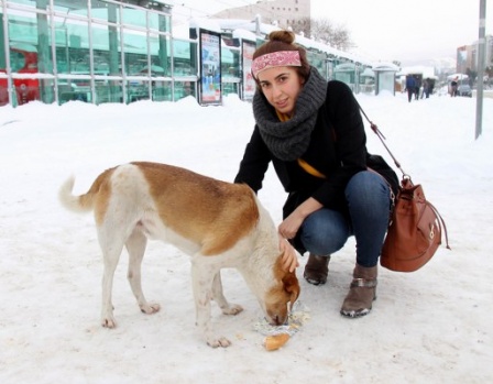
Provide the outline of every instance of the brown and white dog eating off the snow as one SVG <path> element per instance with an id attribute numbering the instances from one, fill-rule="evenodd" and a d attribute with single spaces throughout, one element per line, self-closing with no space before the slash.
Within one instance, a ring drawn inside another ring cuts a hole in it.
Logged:
<path id="1" fill-rule="evenodd" d="M 105 261 L 103 327 L 117 325 L 111 290 L 123 246 L 129 252 L 128 278 L 139 307 L 144 314 L 160 310 L 142 293 L 141 262 L 147 238 L 168 242 L 191 256 L 197 326 L 209 345 L 230 345 L 211 329 L 210 300 L 226 315 L 243 309 L 224 298 L 222 267 L 242 274 L 271 323 L 286 321 L 299 284 L 294 272 L 283 270 L 274 222 L 246 185 L 145 162 L 105 171 L 81 196 L 72 194 L 74 183 L 74 177 L 65 182 L 59 199 L 69 210 L 94 211 Z"/>

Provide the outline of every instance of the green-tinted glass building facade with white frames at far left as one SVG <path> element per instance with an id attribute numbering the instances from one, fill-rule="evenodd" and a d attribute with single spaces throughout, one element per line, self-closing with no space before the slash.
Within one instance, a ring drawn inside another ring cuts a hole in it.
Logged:
<path id="1" fill-rule="evenodd" d="M 0 0 L 0 105 L 176 100 L 196 94 L 197 42 L 161 1 Z"/>

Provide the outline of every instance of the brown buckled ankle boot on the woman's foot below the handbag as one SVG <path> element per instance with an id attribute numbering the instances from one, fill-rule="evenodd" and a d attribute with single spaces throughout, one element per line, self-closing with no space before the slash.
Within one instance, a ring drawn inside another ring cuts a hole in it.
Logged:
<path id="1" fill-rule="evenodd" d="M 364 267 L 357 264 L 348 296 L 342 303 L 341 315 L 351 318 L 368 315 L 374 299 L 376 299 L 376 265 Z"/>

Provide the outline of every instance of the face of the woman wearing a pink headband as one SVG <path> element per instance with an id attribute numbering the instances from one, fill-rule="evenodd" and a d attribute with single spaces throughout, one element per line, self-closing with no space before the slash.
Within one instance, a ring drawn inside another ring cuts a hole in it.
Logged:
<path id="1" fill-rule="evenodd" d="M 294 67 L 273 67 L 259 74 L 259 83 L 269 103 L 278 112 L 293 116 L 305 80 Z"/>

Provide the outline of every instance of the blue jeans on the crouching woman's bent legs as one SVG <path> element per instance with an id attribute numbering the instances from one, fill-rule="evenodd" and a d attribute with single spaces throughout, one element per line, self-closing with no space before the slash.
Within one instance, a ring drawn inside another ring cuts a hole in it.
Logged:
<path id="1" fill-rule="evenodd" d="M 308 252 L 329 255 L 354 235 L 357 263 L 375 266 L 388 226 L 391 189 L 380 175 L 362 171 L 349 180 L 346 200 L 349 217 L 336 210 L 319 209 L 303 222 L 300 240 Z"/>

